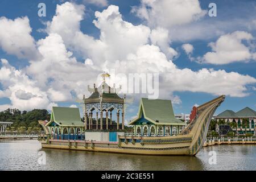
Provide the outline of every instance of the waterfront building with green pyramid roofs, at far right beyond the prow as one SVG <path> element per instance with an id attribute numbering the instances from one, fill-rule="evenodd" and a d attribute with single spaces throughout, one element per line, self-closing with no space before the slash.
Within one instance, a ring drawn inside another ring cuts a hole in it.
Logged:
<path id="1" fill-rule="evenodd" d="M 217 121 L 217 130 L 219 129 L 219 123 L 225 123 L 225 125 L 232 125 L 232 130 L 236 134 L 254 134 L 256 135 L 256 111 L 250 107 L 245 107 L 236 113 L 233 110 L 225 110 L 215 117 Z"/>

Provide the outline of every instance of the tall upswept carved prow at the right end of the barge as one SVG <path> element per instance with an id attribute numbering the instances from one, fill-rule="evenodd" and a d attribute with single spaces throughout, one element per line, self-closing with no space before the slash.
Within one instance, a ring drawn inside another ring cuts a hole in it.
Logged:
<path id="1" fill-rule="evenodd" d="M 225 96 L 223 95 L 201 106 L 193 108 L 191 113 L 191 123 L 182 133 L 192 135 L 192 142 L 189 147 L 190 155 L 196 155 L 201 147 L 203 147 L 214 111 L 224 99 Z"/>

